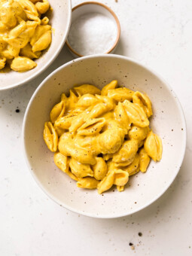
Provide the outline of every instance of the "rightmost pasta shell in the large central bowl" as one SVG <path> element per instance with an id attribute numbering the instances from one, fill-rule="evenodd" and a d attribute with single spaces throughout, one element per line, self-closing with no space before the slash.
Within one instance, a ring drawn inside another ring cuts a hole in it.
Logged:
<path id="1" fill-rule="evenodd" d="M 162 157 L 162 142 L 157 134 L 152 131 L 148 133 L 148 137 L 145 139 L 144 148 L 149 157 L 151 157 L 155 162 L 160 161 Z"/>

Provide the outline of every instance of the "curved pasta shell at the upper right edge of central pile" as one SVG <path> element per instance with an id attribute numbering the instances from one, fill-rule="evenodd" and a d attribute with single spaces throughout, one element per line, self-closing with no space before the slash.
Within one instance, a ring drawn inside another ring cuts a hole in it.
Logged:
<path id="1" fill-rule="evenodd" d="M 153 114 L 151 101 L 148 98 L 146 94 L 135 92 L 133 94 L 133 103 L 137 103 L 140 105 L 141 108 L 145 111 L 145 114 L 147 114 L 147 117 L 151 117 Z"/>

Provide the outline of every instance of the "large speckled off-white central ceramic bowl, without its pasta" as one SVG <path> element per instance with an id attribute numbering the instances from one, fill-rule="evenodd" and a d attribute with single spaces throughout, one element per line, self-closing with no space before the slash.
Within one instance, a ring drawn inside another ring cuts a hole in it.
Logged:
<path id="1" fill-rule="evenodd" d="M 163 140 L 163 156 L 159 163 L 151 161 L 146 173 L 131 177 L 123 192 L 112 189 L 99 195 L 97 190 L 76 187 L 75 181 L 54 165 L 53 153 L 43 140 L 43 130 L 61 93 L 68 93 L 74 85 L 81 84 L 102 88 L 113 79 L 150 97 L 154 110 L 151 126 Z M 41 83 L 26 109 L 23 145 L 33 177 L 56 203 L 83 215 L 116 218 L 144 209 L 172 184 L 184 157 L 186 127 L 175 93 L 159 75 L 133 59 L 103 54 L 66 63 Z"/>

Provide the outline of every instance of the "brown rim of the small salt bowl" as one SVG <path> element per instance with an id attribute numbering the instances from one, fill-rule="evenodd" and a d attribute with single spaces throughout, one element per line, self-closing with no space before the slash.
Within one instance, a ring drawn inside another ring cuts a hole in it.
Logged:
<path id="1" fill-rule="evenodd" d="M 107 11 L 109 11 L 111 13 L 111 15 L 114 17 L 114 20 L 115 20 L 115 22 L 117 24 L 117 37 L 116 37 L 116 40 L 114 41 L 114 44 L 111 46 L 111 48 L 108 51 L 106 51 L 105 54 L 111 53 L 114 50 L 114 48 L 117 46 L 117 44 L 118 44 L 118 42 L 120 40 L 120 22 L 119 22 L 119 20 L 117 18 L 117 15 L 107 5 L 104 5 L 104 4 L 100 3 L 100 2 L 93 2 L 93 1 L 83 2 L 83 3 L 79 4 L 79 5 L 76 5 L 74 8 L 72 8 L 72 12 L 75 11 L 76 9 L 80 8 L 81 6 L 84 6 L 84 5 L 100 5 L 102 8 L 105 8 Z M 80 53 L 78 53 L 76 50 L 74 50 L 72 48 L 71 44 L 69 44 L 68 38 L 66 40 L 66 45 L 69 47 L 69 50 L 71 50 L 73 54 L 75 54 L 78 57 L 84 57 L 84 55 L 81 55 Z"/>

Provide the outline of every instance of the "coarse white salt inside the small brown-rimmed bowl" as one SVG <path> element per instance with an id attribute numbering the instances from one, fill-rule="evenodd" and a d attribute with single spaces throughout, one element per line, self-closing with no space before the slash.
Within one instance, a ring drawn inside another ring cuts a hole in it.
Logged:
<path id="1" fill-rule="evenodd" d="M 117 38 L 117 25 L 109 17 L 90 13 L 78 17 L 69 32 L 69 44 L 77 53 L 107 53 Z"/>

